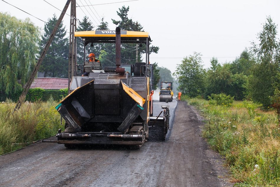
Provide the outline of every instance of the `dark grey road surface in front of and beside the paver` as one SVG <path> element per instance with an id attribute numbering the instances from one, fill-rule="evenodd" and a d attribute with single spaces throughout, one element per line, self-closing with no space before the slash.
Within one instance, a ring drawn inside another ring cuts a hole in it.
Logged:
<path id="1" fill-rule="evenodd" d="M 154 102 L 159 110 L 165 104 Z M 201 137 L 195 108 L 176 100 L 169 105 L 165 142 L 146 142 L 139 150 L 40 142 L 0 156 L 0 186 L 233 186 L 223 159 Z"/>

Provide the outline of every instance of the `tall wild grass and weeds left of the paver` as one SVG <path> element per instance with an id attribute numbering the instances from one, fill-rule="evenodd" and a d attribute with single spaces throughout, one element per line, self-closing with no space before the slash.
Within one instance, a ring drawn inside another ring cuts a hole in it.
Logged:
<path id="1" fill-rule="evenodd" d="M 15 103 L 9 100 L 0 103 L 0 155 L 32 144 L 20 143 L 55 136 L 57 129 L 64 129 L 55 109 L 57 104 L 52 99 L 44 103 L 25 102 L 13 113 Z"/>

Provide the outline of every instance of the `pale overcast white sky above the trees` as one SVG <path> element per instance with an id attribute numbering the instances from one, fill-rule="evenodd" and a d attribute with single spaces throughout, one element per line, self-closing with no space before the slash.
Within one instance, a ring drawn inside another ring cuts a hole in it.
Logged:
<path id="1" fill-rule="evenodd" d="M 58 9 L 62 10 L 66 3 L 65 0 L 5 1 L 44 21 L 53 14 L 59 17 L 61 12 Z M 98 25 L 100 17 L 104 17 L 109 28 L 115 30 L 116 25 L 111 18 L 120 20 L 116 11 L 123 5 L 129 6 L 128 17 L 138 21 L 149 32 L 152 45 L 159 47 L 158 54 L 150 55 L 151 63 L 157 62 L 172 72 L 184 57 L 194 51 L 202 54 L 205 68 L 210 67 L 213 56 L 221 64 L 233 61 L 246 47 L 251 46 L 252 41 L 257 41 L 256 35 L 267 16 L 271 16 L 279 31 L 279 0 L 121 1 L 127 0 L 76 0 L 77 6 L 93 5 L 77 7 L 77 18 L 82 20 L 86 14 L 94 25 Z M 9 12 L 19 19 L 29 17 L 40 28 L 45 24 L 2 0 L 0 11 Z M 68 32 L 69 23 L 70 16 L 65 15 L 63 24 Z"/>

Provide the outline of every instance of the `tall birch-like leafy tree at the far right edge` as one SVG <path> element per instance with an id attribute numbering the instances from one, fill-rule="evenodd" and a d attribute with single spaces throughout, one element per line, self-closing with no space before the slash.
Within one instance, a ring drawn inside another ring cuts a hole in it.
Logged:
<path id="1" fill-rule="evenodd" d="M 266 18 L 263 30 L 258 33 L 259 43 L 252 43 L 251 50 L 259 58 L 259 63 L 252 69 L 248 82 L 248 95 L 253 101 L 270 105 L 269 96 L 273 95 L 280 84 L 279 59 L 280 42 L 277 38 L 277 26 L 271 17 Z"/>

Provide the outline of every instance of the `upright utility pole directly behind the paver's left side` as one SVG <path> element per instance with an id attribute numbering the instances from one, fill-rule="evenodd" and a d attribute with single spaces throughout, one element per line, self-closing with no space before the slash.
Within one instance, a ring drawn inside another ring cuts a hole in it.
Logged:
<path id="1" fill-rule="evenodd" d="M 68 94 L 70 94 L 70 83 L 73 76 L 77 75 L 77 39 L 74 37 L 76 31 L 76 0 L 71 0 L 70 13 L 70 36 L 69 36 L 69 65 L 68 65 Z"/>

